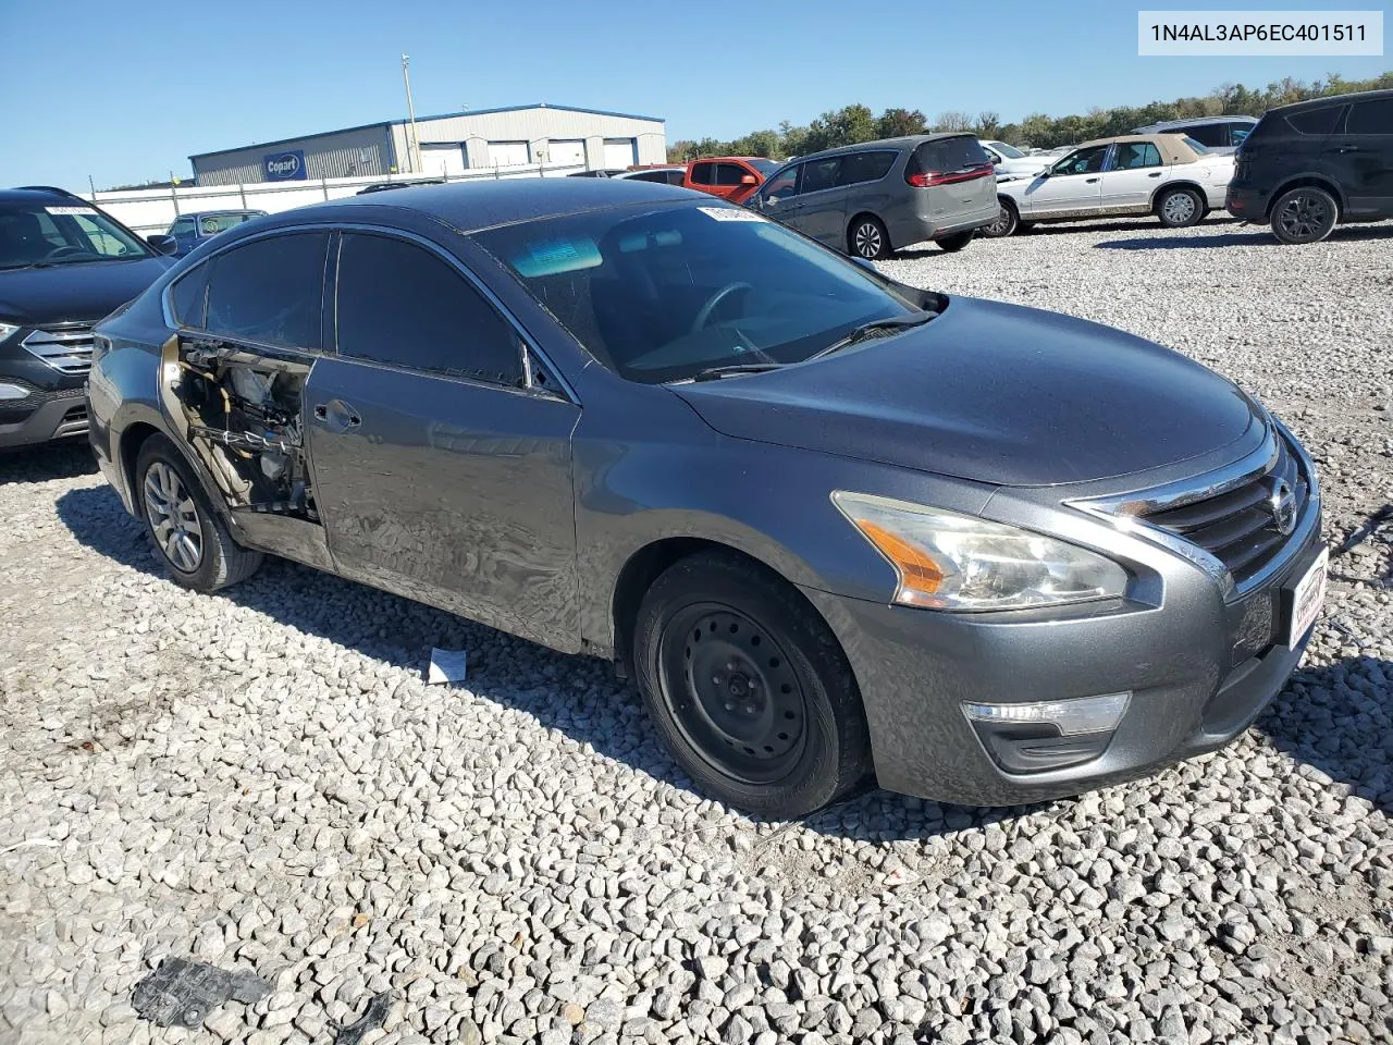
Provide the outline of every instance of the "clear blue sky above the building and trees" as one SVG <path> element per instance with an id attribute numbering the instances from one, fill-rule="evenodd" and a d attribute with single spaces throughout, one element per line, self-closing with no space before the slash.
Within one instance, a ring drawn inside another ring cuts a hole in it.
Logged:
<path id="1" fill-rule="evenodd" d="M 1376 8 L 1382 0 L 1328 4 Z M 417 113 L 552 102 L 667 120 L 667 141 L 862 102 L 1003 120 L 1348 78 L 1372 59 L 1137 57 L 1149 0 L 0 0 L 0 185 L 187 177 L 191 153 Z M 1212 3 L 1223 8 L 1305 4 Z M 865 13 L 864 17 L 855 14 Z"/>

